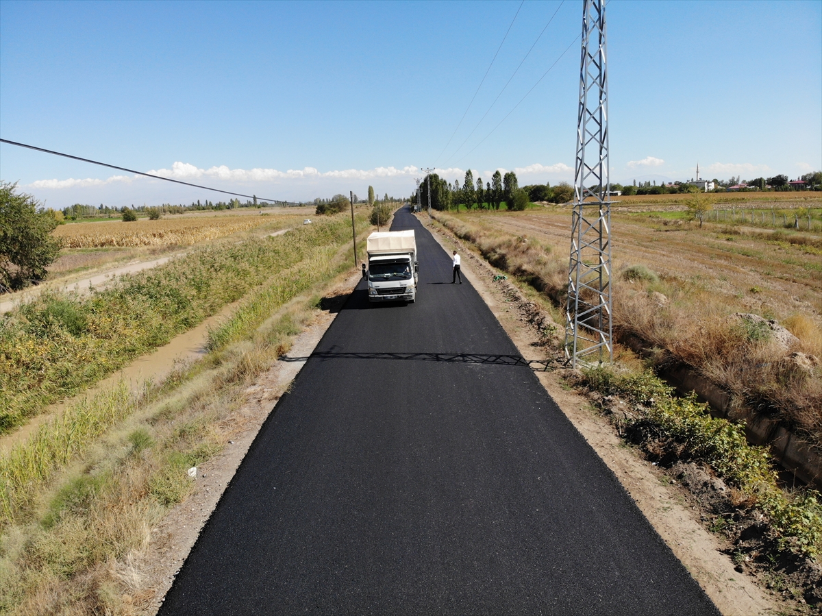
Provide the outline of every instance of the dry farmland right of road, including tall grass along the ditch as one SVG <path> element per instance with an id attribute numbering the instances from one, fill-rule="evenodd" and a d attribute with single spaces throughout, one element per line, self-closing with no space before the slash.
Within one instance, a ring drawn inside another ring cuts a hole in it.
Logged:
<path id="1" fill-rule="evenodd" d="M 741 224 L 700 229 L 668 214 L 612 212 L 615 333 L 639 336 L 822 441 L 822 238 Z M 564 297 L 570 208 L 436 217 L 495 265 Z M 736 313 L 791 331 L 799 339 L 788 345 L 793 359 Z M 620 352 L 630 360 L 630 351 Z"/>

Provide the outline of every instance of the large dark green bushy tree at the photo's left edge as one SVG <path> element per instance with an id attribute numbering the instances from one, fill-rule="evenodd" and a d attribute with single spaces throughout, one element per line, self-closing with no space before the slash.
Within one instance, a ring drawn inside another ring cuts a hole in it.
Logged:
<path id="1" fill-rule="evenodd" d="M 39 209 L 39 211 L 38 211 Z M 17 192 L 16 183 L 0 182 L 0 282 L 22 289 L 43 280 L 60 252 L 51 236 L 58 225 L 35 197 Z"/>

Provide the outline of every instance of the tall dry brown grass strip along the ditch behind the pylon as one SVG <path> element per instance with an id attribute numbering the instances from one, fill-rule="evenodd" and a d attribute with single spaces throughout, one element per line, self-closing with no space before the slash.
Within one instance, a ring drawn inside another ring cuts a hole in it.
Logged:
<path id="1" fill-rule="evenodd" d="M 492 221 L 478 224 L 443 212 L 435 217 L 492 265 L 564 304 L 564 254 L 496 229 Z M 794 323 L 799 332 L 798 345 L 786 348 L 770 332 L 751 336 L 734 316 L 741 307 L 714 293 L 707 278 L 664 276 L 644 264 L 615 262 L 612 269 L 626 281 L 613 299 L 617 340 L 642 340 L 658 350 L 649 359 L 658 368 L 687 364 L 739 399 L 779 416 L 811 442 L 822 443 L 822 329 L 814 320 L 799 314 L 786 320 L 785 327 Z"/>

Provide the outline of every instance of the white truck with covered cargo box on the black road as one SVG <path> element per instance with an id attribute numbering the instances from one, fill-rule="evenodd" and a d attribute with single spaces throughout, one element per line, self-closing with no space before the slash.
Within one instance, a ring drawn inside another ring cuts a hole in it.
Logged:
<path id="1" fill-rule="evenodd" d="M 408 302 L 417 299 L 417 240 L 413 230 L 374 232 L 366 241 L 368 265 L 363 263 L 369 302 Z"/>

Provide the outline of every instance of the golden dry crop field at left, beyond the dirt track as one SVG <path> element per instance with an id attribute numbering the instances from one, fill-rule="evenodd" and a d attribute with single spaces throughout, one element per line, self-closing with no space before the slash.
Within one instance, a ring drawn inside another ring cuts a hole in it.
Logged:
<path id="1" fill-rule="evenodd" d="M 62 239 L 63 248 L 106 248 L 123 246 L 191 246 L 255 229 L 275 221 L 287 224 L 293 216 L 272 219 L 261 215 L 186 216 L 174 219 L 105 221 L 62 225 L 54 237 Z"/>

